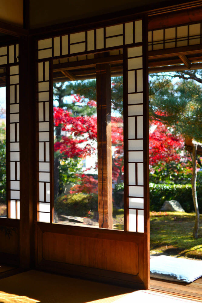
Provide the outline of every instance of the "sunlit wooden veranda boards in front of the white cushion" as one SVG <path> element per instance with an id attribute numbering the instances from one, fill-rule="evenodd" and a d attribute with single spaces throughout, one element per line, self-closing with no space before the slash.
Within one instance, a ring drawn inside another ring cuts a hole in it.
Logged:
<path id="1" fill-rule="evenodd" d="M 150 288 L 202 300 L 202 278 L 189 284 L 151 278 Z"/>

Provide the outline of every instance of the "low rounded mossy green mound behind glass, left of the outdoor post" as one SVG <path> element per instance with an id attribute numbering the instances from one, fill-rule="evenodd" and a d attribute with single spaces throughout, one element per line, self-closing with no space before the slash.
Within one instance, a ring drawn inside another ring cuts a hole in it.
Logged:
<path id="1" fill-rule="evenodd" d="M 98 212 L 98 195 L 72 194 L 60 196 L 55 201 L 58 215 L 91 217 L 90 212 Z"/>

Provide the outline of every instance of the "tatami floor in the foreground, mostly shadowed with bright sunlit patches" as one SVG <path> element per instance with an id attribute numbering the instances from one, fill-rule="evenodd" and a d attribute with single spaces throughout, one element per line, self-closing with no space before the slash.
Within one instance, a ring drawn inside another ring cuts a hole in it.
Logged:
<path id="1" fill-rule="evenodd" d="M 0 303 L 182 303 L 193 302 L 152 291 L 26 271 L 0 281 Z"/>

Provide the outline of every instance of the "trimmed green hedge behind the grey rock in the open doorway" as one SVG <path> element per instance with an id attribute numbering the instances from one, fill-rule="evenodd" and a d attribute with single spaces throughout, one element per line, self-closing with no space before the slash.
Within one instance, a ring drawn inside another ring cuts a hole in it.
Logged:
<path id="1" fill-rule="evenodd" d="M 177 200 L 186 212 L 194 211 L 191 185 L 150 183 L 150 210 L 160 211 L 164 201 Z M 199 211 L 202 213 L 202 186 L 197 186 Z"/>

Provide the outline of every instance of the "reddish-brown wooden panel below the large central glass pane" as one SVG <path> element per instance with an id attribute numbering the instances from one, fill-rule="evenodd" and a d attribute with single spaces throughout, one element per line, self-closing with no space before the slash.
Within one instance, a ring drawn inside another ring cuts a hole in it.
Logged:
<path id="1" fill-rule="evenodd" d="M 42 256 L 47 261 L 139 273 L 139 248 L 134 242 L 44 232 Z"/>

